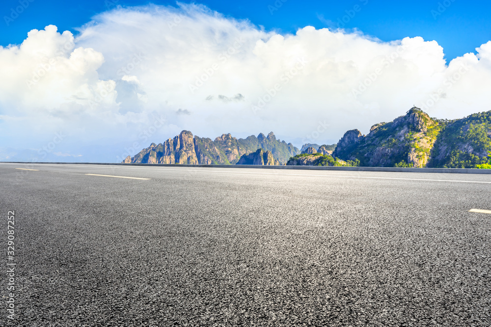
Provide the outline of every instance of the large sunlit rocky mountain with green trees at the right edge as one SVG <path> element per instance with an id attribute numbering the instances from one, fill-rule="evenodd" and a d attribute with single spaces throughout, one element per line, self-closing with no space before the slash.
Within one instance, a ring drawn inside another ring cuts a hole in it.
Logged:
<path id="1" fill-rule="evenodd" d="M 366 136 L 346 132 L 333 156 L 371 167 L 478 168 L 488 164 L 490 150 L 491 111 L 442 120 L 413 107 L 393 122 L 372 126 Z"/>

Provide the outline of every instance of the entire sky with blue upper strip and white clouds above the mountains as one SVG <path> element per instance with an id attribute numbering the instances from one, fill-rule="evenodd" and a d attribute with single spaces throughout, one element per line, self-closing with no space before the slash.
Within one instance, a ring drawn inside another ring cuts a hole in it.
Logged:
<path id="1" fill-rule="evenodd" d="M 0 160 L 117 162 L 187 129 L 336 143 L 489 110 L 484 1 L 0 4 Z"/>

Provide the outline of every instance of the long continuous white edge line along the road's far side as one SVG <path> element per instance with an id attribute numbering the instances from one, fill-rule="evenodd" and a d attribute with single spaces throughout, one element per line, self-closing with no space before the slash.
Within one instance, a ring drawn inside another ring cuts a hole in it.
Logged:
<path id="1" fill-rule="evenodd" d="M 57 164 L 38 164 L 45 166 L 57 166 L 57 167 L 78 167 L 78 168 L 108 168 L 108 169 L 138 169 L 138 170 L 159 170 L 159 171 L 177 171 L 186 172 L 193 169 L 193 167 L 183 167 L 184 169 L 172 169 L 168 167 L 160 168 L 133 168 L 133 167 L 114 167 L 110 165 L 101 166 L 83 166 L 83 165 L 57 165 Z M 189 168 L 189 169 L 185 169 Z M 200 167 L 197 167 L 200 168 Z M 257 168 L 249 168 L 257 169 Z M 240 170 L 240 168 L 238 168 Z M 421 180 L 421 181 L 435 181 L 435 182 L 456 182 L 456 183 L 484 183 L 491 184 L 490 182 L 475 181 L 475 180 L 456 180 L 456 179 L 423 179 L 423 178 L 401 178 L 401 177 L 373 177 L 373 176 L 348 176 L 348 175 L 313 175 L 313 174 L 281 174 L 281 173 L 260 173 L 260 172 L 244 172 L 244 171 L 218 171 L 218 170 L 202 170 L 195 169 L 194 172 L 208 172 L 208 173 L 231 173 L 231 174 L 263 174 L 263 175 L 285 175 L 285 176 L 314 176 L 314 177 L 345 177 L 345 178 L 369 178 L 369 179 L 396 179 L 396 180 Z M 319 172 L 336 172 L 336 171 L 319 171 Z M 372 173 L 372 172 L 368 172 Z M 402 172 L 403 173 L 403 172 Z"/>

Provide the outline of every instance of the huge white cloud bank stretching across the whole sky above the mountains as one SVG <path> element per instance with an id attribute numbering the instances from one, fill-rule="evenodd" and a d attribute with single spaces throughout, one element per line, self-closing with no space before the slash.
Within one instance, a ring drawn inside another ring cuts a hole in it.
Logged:
<path id="1" fill-rule="evenodd" d="M 196 4 L 117 8 L 76 39 L 50 25 L 0 48 L 0 126 L 21 128 L 25 146 L 35 133 L 48 142 L 67 130 L 73 143 L 120 142 L 131 152 L 182 129 L 273 130 L 321 144 L 414 104 L 440 118 L 488 110 L 491 42 L 448 65 L 443 52 L 421 37 L 381 42 L 312 26 L 281 35 Z"/>

